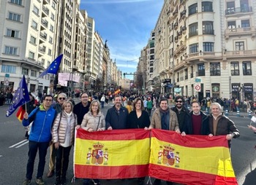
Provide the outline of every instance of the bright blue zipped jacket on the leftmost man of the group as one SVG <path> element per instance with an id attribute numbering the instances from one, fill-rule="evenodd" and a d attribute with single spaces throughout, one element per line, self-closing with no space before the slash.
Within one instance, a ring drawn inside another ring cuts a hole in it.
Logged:
<path id="1" fill-rule="evenodd" d="M 39 110 L 38 110 L 39 109 Z M 31 122 L 31 131 L 29 141 L 49 142 L 51 140 L 51 128 L 56 117 L 56 111 L 50 107 L 47 111 L 41 105 L 29 114 L 29 119 L 23 119 L 24 127 L 29 126 Z"/>

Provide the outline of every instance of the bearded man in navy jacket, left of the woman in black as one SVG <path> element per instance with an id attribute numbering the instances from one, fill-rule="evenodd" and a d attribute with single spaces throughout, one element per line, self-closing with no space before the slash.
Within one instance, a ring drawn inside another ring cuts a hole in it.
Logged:
<path id="1" fill-rule="evenodd" d="M 116 95 L 114 98 L 114 106 L 108 109 L 105 121 L 106 129 L 125 129 L 127 128 L 128 111 L 124 106 L 121 106 L 121 96 Z"/>

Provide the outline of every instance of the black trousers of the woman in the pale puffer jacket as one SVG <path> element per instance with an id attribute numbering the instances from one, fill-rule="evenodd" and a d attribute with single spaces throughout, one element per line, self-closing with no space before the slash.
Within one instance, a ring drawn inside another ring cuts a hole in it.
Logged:
<path id="1" fill-rule="evenodd" d="M 71 147 L 59 146 L 59 149 L 56 149 L 56 177 L 66 178 Z"/>

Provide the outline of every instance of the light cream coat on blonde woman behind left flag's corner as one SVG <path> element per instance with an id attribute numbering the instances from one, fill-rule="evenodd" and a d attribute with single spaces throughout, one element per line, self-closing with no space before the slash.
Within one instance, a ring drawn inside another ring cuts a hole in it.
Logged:
<path id="1" fill-rule="evenodd" d="M 105 117 L 101 111 L 99 111 L 99 114 L 97 114 L 96 117 L 94 117 L 94 115 L 91 114 L 91 111 L 89 111 L 86 113 L 86 115 L 84 115 L 81 127 L 84 130 L 89 130 L 89 128 L 92 128 L 94 131 L 97 131 L 97 127 L 105 130 Z"/>

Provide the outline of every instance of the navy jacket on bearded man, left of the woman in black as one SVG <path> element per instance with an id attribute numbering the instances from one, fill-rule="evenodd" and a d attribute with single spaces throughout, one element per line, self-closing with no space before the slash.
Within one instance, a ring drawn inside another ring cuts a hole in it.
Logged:
<path id="1" fill-rule="evenodd" d="M 121 106 L 119 110 L 119 114 L 116 111 L 116 107 L 108 109 L 105 121 L 106 121 L 106 130 L 108 127 L 112 127 L 113 129 L 124 129 L 127 128 L 127 116 L 128 111 L 125 107 Z"/>

